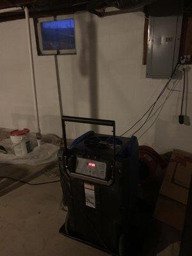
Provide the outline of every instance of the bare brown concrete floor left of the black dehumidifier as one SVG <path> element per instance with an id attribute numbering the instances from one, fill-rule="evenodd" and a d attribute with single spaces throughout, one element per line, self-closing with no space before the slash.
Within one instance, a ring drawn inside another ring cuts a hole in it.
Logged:
<path id="1" fill-rule="evenodd" d="M 13 167 L 11 164 L 1 164 L 0 174 L 10 173 L 10 168 Z M 19 171 L 19 167 L 16 167 Z M 32 172 L 33 168 L 28 166 L 28 171 L 30 169 Z M 23 171 L 24 166 L 22 166 Z M 42 174 L 30 182 L 52 179 L 58 177 Z M 107 255 L 59 234 L 58 231 L 66 216 L 66 212 L 60 207 L 62 195 L 60 183 L 29 186 L 16 182 L 19 186 L 7 184 L 11 189 L 4 190 L 4 182 L 8 180 L 0 180 L 1 256 Z M 1 193 L 2 188 L 6 192 Z"/>

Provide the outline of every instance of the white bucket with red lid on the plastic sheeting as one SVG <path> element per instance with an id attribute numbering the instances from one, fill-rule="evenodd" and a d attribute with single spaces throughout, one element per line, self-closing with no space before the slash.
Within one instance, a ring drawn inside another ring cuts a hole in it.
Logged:
<path id="1" fill-rule="evenodd" d="M 16 156 L 23 156 L 30 152 L 31 141 L 29 129 L 15 130 L 10 133 L 13 149 Z"/>

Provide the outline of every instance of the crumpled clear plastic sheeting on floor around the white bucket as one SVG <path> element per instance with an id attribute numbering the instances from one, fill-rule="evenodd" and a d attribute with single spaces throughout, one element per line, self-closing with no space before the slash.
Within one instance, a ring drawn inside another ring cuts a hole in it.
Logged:
<path id="1" fill-rule="evenodd" d="M 60 148 L 61 139 L 54 134 L 47 134 L 42 137 L 42 145 L 36 147 L 35 134 L 31 135 L 31 152 L 24 156 L 13 154 L 12 142 L 10 139 L 0 141 L 0 145 L 6 148 L 8 154 L 0 154 L 0 163 L 4 164 L 29 164 L 38 165 L 50 163 L 57 160 L 57 153 Z"/>

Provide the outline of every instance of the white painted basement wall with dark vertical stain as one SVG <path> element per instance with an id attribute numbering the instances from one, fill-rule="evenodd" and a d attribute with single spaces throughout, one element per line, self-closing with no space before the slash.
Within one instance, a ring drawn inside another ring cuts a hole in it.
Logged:
<path id="1" fill-rule="evenodd" d="M 127 13 L 100 19 L 79 13 L 75 17 L 77 55 L 58 56 L 64 113 L 116 120 L 116 132 L 122 134 L 154 102 L 166 83 L 145 77 L 144 15 Z M 29 127 L 35 131 L 25 20 L 1 23 L 0 33 L 0 127 Z M 54 57 L 37 56 L 33 30 L 32 34 L 42 133 L 61 135 Z M 192 92 L 192 71 L 188 80 Z M 180 88 L 181 82 L 177 85 Z M 191 126 L 177 121 L 180 99 L 181 93 L 172 93 L 140 144 L 159 152 L 173 148 L 192 152 Z M 189 94 L 188 116 L 192 116 L 191 104 Z M 138 132 L 138 137 L 150 124 Z M 86 129 L 84 125 L 67 125 L 68 137 L 76 138 Z"/>

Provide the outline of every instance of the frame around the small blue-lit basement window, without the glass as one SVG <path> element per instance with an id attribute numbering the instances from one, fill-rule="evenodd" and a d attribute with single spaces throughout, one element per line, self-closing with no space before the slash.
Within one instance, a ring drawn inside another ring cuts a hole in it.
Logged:
<path id="1" fill-rule="evenodd" d="M 61 49 L 61 50 L 47 50 L 43 49 L 43 41 L 42 41 L 42 31 L 41 31 L 41 23 L 56 21 L 56 20 L 67 20 L 74 19 L 74 15 L 58 15 L 54 17 L 44 17 L 44 18 L 34 18 L 34 28 L 35 28 L 35 38 L 36 38 L 36 49 L 38 56 L 48 56 L 48 55 L 68 55 L 68 54 L 76 54 L 76 22 L 74 19 L 74 35 L 75 35 L 75 48 L 74 49 Z"/>

